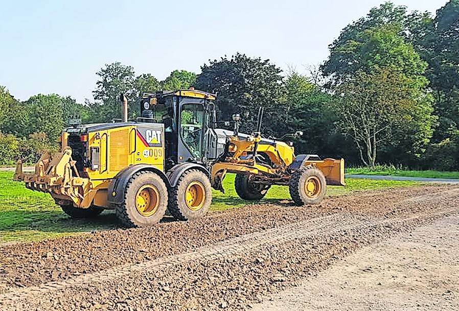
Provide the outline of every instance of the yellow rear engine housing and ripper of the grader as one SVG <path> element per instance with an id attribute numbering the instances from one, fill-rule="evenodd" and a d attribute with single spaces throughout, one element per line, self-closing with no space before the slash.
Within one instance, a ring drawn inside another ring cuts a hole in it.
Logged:
<path id="1" fill-rule="evenodd" d="M 84 168 L 85 176 L 75 174 L 72 149 L 66 146 L 68 134 L 64 133 L 60 152 L 44 152 L 33 174 L 22 172 L 22 163 L 17 163 L 14 179 L 76 207 L 108 207 L 108 186 L 126 166 L 145 163 L 164 172 L 164 148 L 145 147 L 135 130 L 136 125 L 128 125 L 88 133 L 87 153 L 90 154 L 90 148 L 99 148 L 100 164 L 96 170 Z M 144 153 L 145 149 L 149 152 Z"/>

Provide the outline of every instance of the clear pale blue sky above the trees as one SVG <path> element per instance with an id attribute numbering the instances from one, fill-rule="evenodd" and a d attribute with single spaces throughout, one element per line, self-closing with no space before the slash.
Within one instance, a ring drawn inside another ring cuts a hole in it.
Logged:
<path id="1" fill-rule="evenodd" d="M 93 100 L 96 71 L 120 61 L 159 80 L 199 73 L 235 52 L 303 71 L 382 0 L 0 0 L 0 85 L 20 100 L 37 93 Z M 394 0 L 434 13 L 446 0 Z"/>

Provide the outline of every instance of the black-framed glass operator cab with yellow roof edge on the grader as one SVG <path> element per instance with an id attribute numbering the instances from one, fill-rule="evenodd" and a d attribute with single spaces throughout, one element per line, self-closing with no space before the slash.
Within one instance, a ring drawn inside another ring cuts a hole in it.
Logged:
<path id="1" fill-rule="evenodd" d="M 163 123 L 166 136 L 166 171 L 193 161 L 204 165 L 223 153 L 214 130 L 216 95 L 194 89 L 145 93 L 141 115 Z M 223 142 L 223 143 L 221 143 Z"/>

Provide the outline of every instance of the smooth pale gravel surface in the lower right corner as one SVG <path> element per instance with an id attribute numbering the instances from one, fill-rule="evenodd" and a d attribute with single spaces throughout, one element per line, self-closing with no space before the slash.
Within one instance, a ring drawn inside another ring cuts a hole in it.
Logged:
<path id="1" fill-rule="evenodd" d="M 459 212 L 364 247 L 253 310 L 457 310 L 457 236 Z"/>

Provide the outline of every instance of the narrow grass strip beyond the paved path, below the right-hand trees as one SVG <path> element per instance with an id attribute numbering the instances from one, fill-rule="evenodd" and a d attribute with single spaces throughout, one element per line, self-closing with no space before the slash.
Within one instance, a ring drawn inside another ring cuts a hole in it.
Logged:
<path id="1" fill-rule="evenodd" d="M 384 176 L 405 176 L 405 177 L 423 177 L 423 178 L 448 178 L 459 179 L 459 172 L 439 172 L 439 171 L 410 171 L 400 170 L 395 166 L 380 165 L 374 169 L 369 168 L 350 168 L 346 174 L 354 175 L 384 175 Z"/>

